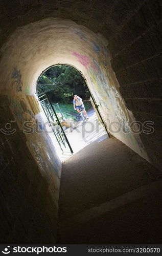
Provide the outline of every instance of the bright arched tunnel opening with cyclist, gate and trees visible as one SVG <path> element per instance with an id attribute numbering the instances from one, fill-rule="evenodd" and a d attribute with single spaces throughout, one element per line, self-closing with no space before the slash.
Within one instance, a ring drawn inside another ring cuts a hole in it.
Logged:
<path id="1" fill-rule="evenodd" d="M 79 95 L 77 101 L 74 95 Z M 81 71 L 73 66 L 59 64 L 45 69 L 37 80 L 37 96 L 62 160 L 100 137 L 109 137 L 94 95 Z"/>

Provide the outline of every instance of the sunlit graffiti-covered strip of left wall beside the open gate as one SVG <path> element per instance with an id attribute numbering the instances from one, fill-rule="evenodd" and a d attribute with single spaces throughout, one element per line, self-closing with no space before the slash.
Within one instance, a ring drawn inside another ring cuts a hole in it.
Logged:
<path id="1" fill-rule="evenodd" d="M 30 122 L 29 127 L 32 129 L 30 129 L 31 132 L 27 133 L 28 147 L 41 173 L 49 181 L 50 187 L 55 193 L 58 193 L 56 174 L 57 176 L 60 175 L 61 162 L 57 157 L 53 142 L 45 130 L 45 125 L 43 125 L 36 97 L 22 94 L 22 76 L 17 68 L 14 68 L 12 72 L 10 89 L 11 110 L 18 126 L 20 130 L 25 131 L 25 122 Z"/>

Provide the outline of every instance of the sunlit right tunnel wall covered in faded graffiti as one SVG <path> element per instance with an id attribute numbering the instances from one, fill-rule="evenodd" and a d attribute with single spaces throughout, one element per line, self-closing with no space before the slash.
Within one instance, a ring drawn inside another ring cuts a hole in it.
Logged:
<path id="1" fill-rule="evenodd" d="M 86 55 L 85 50 L 81 51 L 81 49 L 79 51 L 71 50 L 71 53 L 84 67 L 87 85 L 95 98 L 109 133 L 149 161 L 140 134 L 132 132 L 135 118 L 127 109 L 119 91 L 120 86 L 105 47 L 106 41 L 99 35 L 92 40 L 86 36 L 84 30 L 78 29 L 77 35 L 82 40 L 82 45 L 88 42 L 90 54 Z M 138 131 L 138 127 L 134 127 L 134 131 Z"/>

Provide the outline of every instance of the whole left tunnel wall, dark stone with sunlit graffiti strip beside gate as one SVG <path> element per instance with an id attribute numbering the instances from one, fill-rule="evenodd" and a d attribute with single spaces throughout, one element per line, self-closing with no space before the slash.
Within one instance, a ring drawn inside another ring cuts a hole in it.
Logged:
<path id="1" fill-rule="evenodd" d="M 17 68 L 19 56 L 10 47 L 7 52 L 12 60 L 8 55 L 1 65 L 1 241 L 56 243 L 61 161 Z"/>

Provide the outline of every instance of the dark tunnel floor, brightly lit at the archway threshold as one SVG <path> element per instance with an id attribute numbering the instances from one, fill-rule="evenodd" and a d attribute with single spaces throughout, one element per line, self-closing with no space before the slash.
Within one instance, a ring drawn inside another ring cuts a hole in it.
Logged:
<path id="1" fill-rule="evenodd" d="M 58 243 L 161 243 L 159 170 L 114 137 L 63 162 Z"/>

